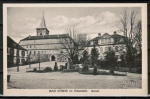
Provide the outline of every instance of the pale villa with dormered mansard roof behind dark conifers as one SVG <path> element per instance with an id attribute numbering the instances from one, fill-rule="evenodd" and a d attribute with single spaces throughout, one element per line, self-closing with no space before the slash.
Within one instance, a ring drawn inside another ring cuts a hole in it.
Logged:
<path id="1" fill-rule="evenodd" d="M 91 53 L 94 43 L 96 48 L 99 50 L 99 60 L 105 60 L 105 52 L 109 51 L 109 48 L 115 51 L 118 61 L 120 61 L 120 56 L 123 54 L 123 51 L 126 52 L 124 36 L 116 34 L 116 32 L 114 32 L 113 35 L 105 33 L 102 36 L 99 33 L 97 37 L 90 40 L 86 45 L 86 49 L 89 54 Z"/>

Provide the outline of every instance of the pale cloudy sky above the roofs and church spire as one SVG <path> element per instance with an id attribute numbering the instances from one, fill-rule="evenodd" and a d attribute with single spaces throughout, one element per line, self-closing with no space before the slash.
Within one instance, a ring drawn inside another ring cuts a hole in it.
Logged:
<path id="1" fill-rule="evenodd" d="M 19 41 L 36 36 L 43 12 L 50 35 L 63 34 L 71 26 L 92 39 L 98 33 L 118 31 L 116 22 L 124 8 L 119 7 L 8 7 L 7 35 Z M 131 8 L 128 8 L 131 9 Z M 141 15 L 141 8 L 134 8 Z M 119 33 L 118 33 L 119 34 Z"/>

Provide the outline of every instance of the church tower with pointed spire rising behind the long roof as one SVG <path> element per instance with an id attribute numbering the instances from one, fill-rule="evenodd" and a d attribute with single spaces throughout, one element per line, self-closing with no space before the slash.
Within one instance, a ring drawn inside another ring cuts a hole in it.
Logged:
<path id="1" fill-rule="evenodd" d="M 37 36 L 49 35 L 49 30 L 46 28 L 46 23 L 45 23 L 45 19 L 44 19 L 44 12 L 43 12 L 43 17 L 42 17 L 40 26 L 38 28 L 36 28 L 36 33 L 37 33 Z"/>

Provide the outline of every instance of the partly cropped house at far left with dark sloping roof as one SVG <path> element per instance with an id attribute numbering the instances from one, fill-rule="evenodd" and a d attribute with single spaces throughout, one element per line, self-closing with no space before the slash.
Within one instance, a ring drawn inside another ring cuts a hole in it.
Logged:
<path id="1" fill-rule="evenodd" d="M 7 36 L 7 66 L 23 64 L 27 61 L 27 50 Z"/>

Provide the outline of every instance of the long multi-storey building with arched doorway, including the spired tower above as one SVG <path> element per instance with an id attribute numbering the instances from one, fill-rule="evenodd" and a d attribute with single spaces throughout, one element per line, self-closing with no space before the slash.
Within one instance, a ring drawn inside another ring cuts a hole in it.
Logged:
<path id="1" fill-rule="evenodd" d="M 61 52 L 65 52 L 62 47 L 61 39 L 71 39 L 67 34 L 50 35 L 49 30 L 46 27 L 44 14 L 40 26 L 36 28 L 37 36 L 28 36 L 20 40 L 19 45 L 28 50 L 28 55 L 31 56 L 31 61 L 37 59 L 37 55 L 40 54 L 44 58 L 44 61 L 68 61 L 68 58 L 61 55 Z"/>

